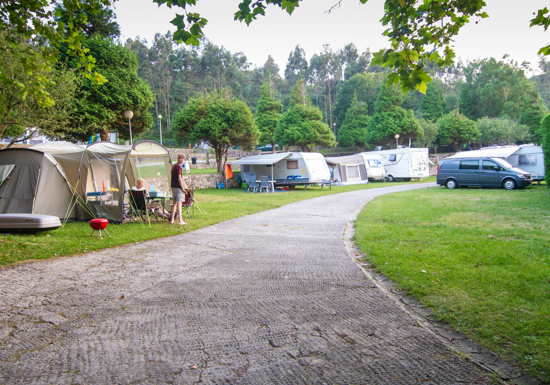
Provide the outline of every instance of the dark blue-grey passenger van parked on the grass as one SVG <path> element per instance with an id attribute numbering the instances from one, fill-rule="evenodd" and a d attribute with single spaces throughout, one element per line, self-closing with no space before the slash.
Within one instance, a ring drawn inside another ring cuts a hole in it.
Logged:
<path id="1" fill-rule="evenodd" d="M 437 184 L 447 188 L 459 186 L 502 187 L 507 190 L 533 183 L 531 174 L 500 158 L 443 159 L 437 167 Z"/>

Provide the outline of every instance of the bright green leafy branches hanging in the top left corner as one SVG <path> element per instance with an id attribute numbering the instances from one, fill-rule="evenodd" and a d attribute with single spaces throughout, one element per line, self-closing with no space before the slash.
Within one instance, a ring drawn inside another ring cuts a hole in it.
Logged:
<path id="1" fill-rule="evenodd" d="M 27 0 L 21 3 L 0 0 L 0 30 L 5 32 L 0 50 L 8 56 L 20 58 L 23 71 L 29 74 L 25 83 L 17 82 L 4 71 L 6 63 L 0 62 L 0 82 L 23 99 L 26 95 L 34 94 L 42 107 L 51 107 L 54 104 L 47 91 L 53 80 L 46 74 L 50 73 L 59 59 L 59 48 L 62 45 L 75 56 L 75 61 L 78 61 L 79 68 L 84 69 L 87 79 L 94 84 L 106 82 L 102 74 L 94 71 L 94 58 L 81 45 L 81 25 L 87 23 L 88 15 L 100 12 L 111 1 L 63 0 L 62 4 L 68 11 L 66 23 L 54 20 L 54 15 L 61 17 L 62 14 L 59 9 L 54 10 L 49 1 Z M 65 33 L 67 29 L 70 31 L 68 34 Z M 21 50 L 21 47 L 24 49 Z"/>

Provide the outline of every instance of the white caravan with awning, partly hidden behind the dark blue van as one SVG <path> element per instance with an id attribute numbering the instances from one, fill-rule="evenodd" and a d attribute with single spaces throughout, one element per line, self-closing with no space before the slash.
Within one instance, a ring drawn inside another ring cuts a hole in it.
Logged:
<path id="1" fill-rule="evenodd" d="M 478 156 L 504 159 L 509 164 L 530 172 L 533 182 L 540 183 L 544 179 L 544 155 L 541 146 L 531 143 L 483 147 L 474 151 L 460 151 L 449 158 L 477 158 Z"/>

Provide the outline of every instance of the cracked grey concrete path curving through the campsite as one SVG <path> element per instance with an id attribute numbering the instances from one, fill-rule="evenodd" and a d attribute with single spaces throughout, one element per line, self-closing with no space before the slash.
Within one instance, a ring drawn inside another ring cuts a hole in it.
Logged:
<path id="1" fill-rule="evenodd" d="M 3 384 L 491 383 L 368 279 L 346 192 L 0 270 Z"/>

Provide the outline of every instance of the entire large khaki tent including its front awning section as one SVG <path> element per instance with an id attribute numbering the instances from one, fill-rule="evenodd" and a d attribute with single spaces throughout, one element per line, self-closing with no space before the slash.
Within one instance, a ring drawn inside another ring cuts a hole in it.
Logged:
<path id="1" fill-rule="evenodd" d="M 20 149 L 9 151 L 15 150 Z M 128 207 L 125 192 L 131 186 L 135 186 L 139 177 L 144 178 L 147 189 L 155 186 L 156 191 L 167 191 L 170 186 L 172 161 L 168 150 L 151 140 L 142 140 L 133 146 L 120 146 L 110 142 L 95 142 L 88 146 L 46 142 L 23 150 L 25 153 L 40 156 L 29 157 L 33 160 L 25 163 L 21 158 L 14 159 L 13 156 L 6 156 L 9 153 L 2 152 L 8 150 L 0 151 L 0 165 L 5 165 L 3 168 L 0 166 L 0 176 L 4 180 L 3 175 L 6 174 L 9 175 L 8 179 L 12 180 L 8 183 L 11 187 L 6 187 L 10 189 L 4 192 L 6 203 L 2 204 L 0 199 L 2 214 L 50 214 L 65 218 L 65 213 L 70 212 L 67 216 L 69 219 L 102 217 L 122 223 Z M 42 158 L 47 161 L 43 161 Z M 29 162 L 33 167 L 15 167 Z M 52 176 L 50 164 L 59 175 Z M 10 165 L 13 166 L 12 170 L 9 169 Z M 14 172 L 25 172 L 26 179 L 12 177 L 15 175 Z M 44 173 L 46 176 L 40 175 Z M 26 186 L 28 183 L 17 182 L 29 178 L 34 178 L 36 183 Z M 38 183 L 40 180 L 42 183 Z M 68 193 L 59 181 L 63 181 Z M 32 192 L 33 188 L 35 192 Z M 42 191 L 48 198 L 42 198 L 38 194 Z M 21 198 L 23 196 L 25 198 Z M 38 205 L 41 199 L 46 199 L 46 206 L 49 202 L 55 201 L 52 205 L 59 206 L 55 210 L 57 214 L 52 213 L 54 208 L 42 208 Z"/>

